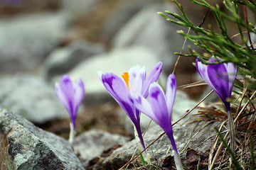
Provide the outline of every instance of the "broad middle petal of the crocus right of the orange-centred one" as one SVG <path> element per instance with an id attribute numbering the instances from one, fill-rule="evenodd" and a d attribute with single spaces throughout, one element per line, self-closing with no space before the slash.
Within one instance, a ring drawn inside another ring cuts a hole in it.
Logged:
<path id="1" fill-rule="evenodd" d="M 150 84 L 148 98 L 150 106 L 156 117 L 156 123 L 158 123 L 161 128 L 166 130 L 171 125 L 171 118 L 169 117 L 168 109 L 166 106 L 164 91 L 156 82 Z"/>

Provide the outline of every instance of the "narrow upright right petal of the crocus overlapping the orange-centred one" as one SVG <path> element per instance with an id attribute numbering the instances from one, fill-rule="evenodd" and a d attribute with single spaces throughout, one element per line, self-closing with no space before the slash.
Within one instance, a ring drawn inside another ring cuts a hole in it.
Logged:
<path id="1" fill-rule="evenodd" d="M 170 74 L 166 83 L 166 104 L 169 117 L 171 118 L 171 113 L 174 107 L 174 101 L 176 96 L 176 77 L 174 74 Z"/>

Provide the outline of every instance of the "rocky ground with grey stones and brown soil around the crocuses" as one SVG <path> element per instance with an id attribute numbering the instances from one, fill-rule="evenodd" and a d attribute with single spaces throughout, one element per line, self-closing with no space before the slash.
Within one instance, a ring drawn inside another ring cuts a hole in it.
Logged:
<path id="1" fill-rule="evenodd" d="M 121 75 L 136 64 L 149 71 L 161 61 L 160 82 L 165 84 L 176 62 L 174 52 L 182 50 L 184 41 L 176 33 L 181 28 L 156 14 L 165 10 L 176 8 L 171 1 L 153 0 L 0 1 L 1 169 L 119 169 L 136 156 L 132 123 L 97 72 Z M 54 83 L 63 74 L 85 82 L 73 146 L 67 141 L 69 115 L 55 97 Z M 181 58 L 175 74 L 178 86 L 199 79 L 191 58 Z M 198 103 L 204 89 L 178 88 L 174 121 Z M 149 122 L 142 115 L 146 145 L 162 133 L 154 123 L 148 128 Z M 178 149 L 188 168 L 198 162 L 208 167 L 213 128 L 219 123 L 176 125 Z M 148 149 L 151 167 L 140 159 L 127 167 L 171 169 L 170 146 L 164 135 Z"/>

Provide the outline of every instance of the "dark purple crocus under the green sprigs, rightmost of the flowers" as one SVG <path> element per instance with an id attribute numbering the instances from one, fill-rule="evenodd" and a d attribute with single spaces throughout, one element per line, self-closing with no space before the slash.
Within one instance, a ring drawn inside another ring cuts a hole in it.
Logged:
<path id="1" fill-rule="evenodd" d="M 208 62 L 217 62 L 217 60 L 212 57 Z M 232 94 L 238 67 L 233 62 L 206 65 L 201 60 L 196 59 L 196 69 L 208 86 L 220 96 L 226 110 L 230 111 L 228 99 Z"/>

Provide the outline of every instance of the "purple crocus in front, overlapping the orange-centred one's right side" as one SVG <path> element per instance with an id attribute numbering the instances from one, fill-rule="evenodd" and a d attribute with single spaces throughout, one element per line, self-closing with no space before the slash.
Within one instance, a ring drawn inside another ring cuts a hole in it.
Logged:
<path id="1" fill-rule="evenodd" d="M 132 99 L 134 105 L 139 111 L 154 120 L 163 130 L 171 141 L 171 146 L 174 149 L 174 160 L 177 169 L 183 169 L 181 158 L 178 154 L 178 149 L 175 144 L 171 114 L 174 107 L 176 97 L 176 78 L 174 74 L 170 74 L 166 84 L 166 94 L 156 82 L 149 86 L 149 101 L 141 94 L 136 94 Z"/>

